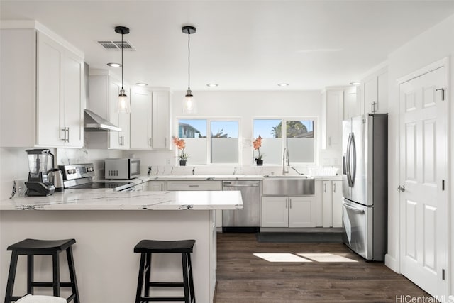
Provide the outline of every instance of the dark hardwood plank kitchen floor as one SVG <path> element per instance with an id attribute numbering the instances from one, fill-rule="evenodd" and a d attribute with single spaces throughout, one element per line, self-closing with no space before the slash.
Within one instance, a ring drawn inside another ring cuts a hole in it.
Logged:
<path id="1" fill-rule="evenodd" d="M 218 233 L 217 245 L 216 303 L 416 302 L 404 298 L 430 297 L 342 243 L 258 243 L 253 233 Z M 358 262 L 272 263 L 253 253 L 333 253 Z"/>

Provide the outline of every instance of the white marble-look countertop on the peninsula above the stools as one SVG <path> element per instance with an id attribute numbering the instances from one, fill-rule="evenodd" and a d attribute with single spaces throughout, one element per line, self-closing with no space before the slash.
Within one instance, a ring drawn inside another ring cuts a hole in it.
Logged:
<path id="1" fill-rule="evenodd" d="M 113 189 L 65 189 L 48 197 L 0 201 L 1 210 L 211 210 L 242 209 L 238 191 L 114 192 Z"/>

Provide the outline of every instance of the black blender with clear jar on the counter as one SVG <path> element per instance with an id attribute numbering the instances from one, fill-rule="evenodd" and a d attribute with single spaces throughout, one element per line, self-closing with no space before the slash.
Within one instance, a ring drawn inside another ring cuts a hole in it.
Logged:
<path id="1" fill-rule="evenodd" d="M 48 173 L 54 168 L 54 155 L 48 149 L 26 150 L 28 153 L 28 181 L 26 182 L 27 196 L 48 196 L 55 191 L 55 186 L 50 182 Z M 48 170 L 49 155 L 52 160 Z"/>

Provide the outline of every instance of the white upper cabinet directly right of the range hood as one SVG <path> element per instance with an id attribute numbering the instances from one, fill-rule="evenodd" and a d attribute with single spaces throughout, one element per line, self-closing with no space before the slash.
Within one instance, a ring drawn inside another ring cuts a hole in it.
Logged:
<path id="1" fill-rule="evenodd" d="M 121 81 L 116 79 L 108 70 L 90 70 L 89 101 L 87 109 L 110 121 L 121 131 L 87 131 L 85 133 L 87 148 L 96 149 L 129 149 L 129 121 L 130 114 L 118 113 L 118 94 Z M 131 98 L 128 85 L 123 86 L 126 94 Z"/>

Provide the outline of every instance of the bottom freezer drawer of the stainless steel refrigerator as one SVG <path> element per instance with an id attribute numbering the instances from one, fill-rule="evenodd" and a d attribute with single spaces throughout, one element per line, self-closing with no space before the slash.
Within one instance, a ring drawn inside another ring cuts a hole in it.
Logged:
<path id="1" fill-rule="evenodd" d="M 343 199 L 343 241 L 362 258 L 372 260 L 372 207 Z"/>

